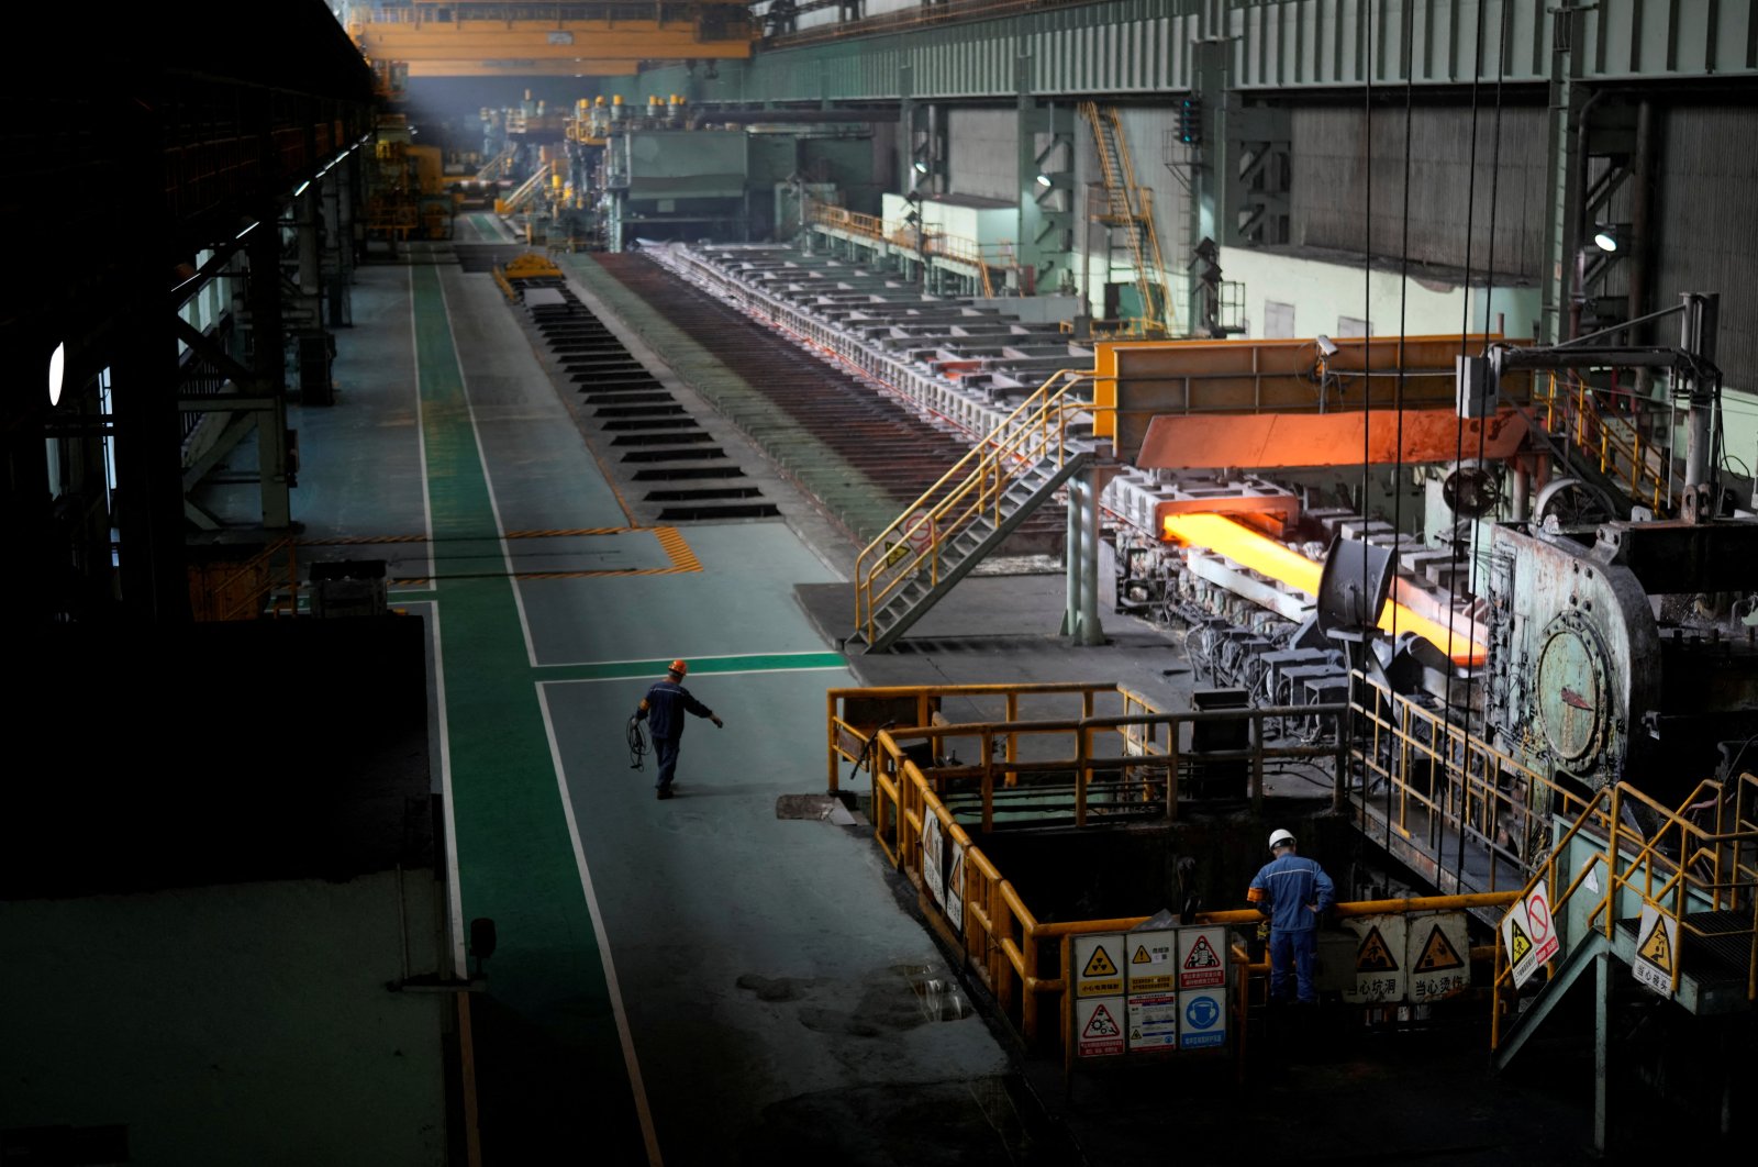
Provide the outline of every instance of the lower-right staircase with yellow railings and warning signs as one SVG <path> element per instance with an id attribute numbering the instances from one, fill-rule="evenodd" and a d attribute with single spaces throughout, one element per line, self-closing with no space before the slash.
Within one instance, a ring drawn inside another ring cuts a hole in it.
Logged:
<path id="1" fill-rule="evenodd" d="M 1538 914 L 1531 912 L 1535 895 Z M 1528 949 L 1544 954 L 1551 937 L 1554 951 L 1522 970 L 1514 958 Z M 1556 1012 L 1568 988 L 1600 967 L 1602 954 L 1693 1016 L 1751 1012 L 1758 1004 L 1758 777 L 1702 782 L 1677 808 L 1623 782 L 1600 789 L 1503 917 L 1501 939 L 1491 1028 L 1498 1070 Z"/>

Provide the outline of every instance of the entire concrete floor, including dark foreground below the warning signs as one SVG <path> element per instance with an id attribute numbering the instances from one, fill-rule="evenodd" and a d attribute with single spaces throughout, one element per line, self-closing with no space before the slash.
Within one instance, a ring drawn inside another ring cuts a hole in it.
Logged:
<path id="1" fill-rule="evenodd" d="M 854 548 L 798 497 L 788 520 L 684 526 L 700 571 L 628 575 L 659 559 L 487 274 L 367 265 L 353 304 L 338 404 L 299 418 L 297 517 L 313 538 L 429 548 L 394 552 L 431 580 L 394 601 L 432 626 L 457 917 L 499 930 L 476 1004 L 485 1162 L 554 1158 L 557 1139 L 603 1163 L 1582 1160 L 1579 1060 L 1489 1079 L 1487 1018 L 1266 1021 L 1275 1058 L 1246 1081 L 1231 1060 L 1064 1079 L 1021 1056 L 870 837 L 779 819 L 777 800 L 823 791 L 826 687 L 1106 680 L 1176 703 L 1176 638 L 1108 617 L 1109 643 L 1071 647 L 1062 580 L 1037 573 L 969 580 L 905 650 L 844 659 Z M 663 369 L 656 337 L 629 343 Z M 786 492 L 754 446 L 735 457 Z M 545 568 L 561 578 L 515 578 Z M 689 726 L 661 803 L 624 724 L 673 656 L 726 728 Z"/>

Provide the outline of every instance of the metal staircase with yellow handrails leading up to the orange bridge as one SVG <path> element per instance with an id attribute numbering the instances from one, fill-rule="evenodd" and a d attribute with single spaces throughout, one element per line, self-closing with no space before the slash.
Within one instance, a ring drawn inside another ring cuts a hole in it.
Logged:
<path id="1" fill-rule="evenodd" d="M 1074 390 L 1090 380 L 1051 376 L 861 550 L 844 647 L 890 649 L 1092 460 L 1067 446 L 1069 424 L 1092 408 Z"/>

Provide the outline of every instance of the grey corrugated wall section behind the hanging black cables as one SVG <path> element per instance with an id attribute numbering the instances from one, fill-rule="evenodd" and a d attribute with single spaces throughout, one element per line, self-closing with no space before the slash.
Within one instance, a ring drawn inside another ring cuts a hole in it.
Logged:
<path id="1" fill-rule="evenodd" d="M 1373 111 L 1371 165 L 1361 148 L 1366 121 L 1361 105 L 1294 109 L 1292 243 L 1403 253 L 1405 109 Z M 1470 109 L 1412 111 L 1410 260 L 1482 272 L 1493 257 L 1496 271 L 1536 279 L 1551 188 L 1545 111 L 1503 107 L 1498 128 L 1496 111 L 1480 109 L 1475 130 L 1473 169 Z"/>

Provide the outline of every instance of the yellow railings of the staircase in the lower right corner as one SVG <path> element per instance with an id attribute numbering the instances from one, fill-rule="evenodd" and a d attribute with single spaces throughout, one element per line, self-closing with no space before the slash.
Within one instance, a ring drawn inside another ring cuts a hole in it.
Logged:
<path id="1" fill-rule="evenodd" d="M 1642 817 L 1653 826 L 1645 831 L 1631 826 L 1631 808 L 1645 812 Z M 1700 815 L 1711 815 L 1712 823 L 1702 826 L 1696 821 Z M 1570 854 L 1570 844 L 1589 826 L 1596 838 L 1605 840 L 1603 845 L 1595 849 L 1596 854 L 1580 870 L 1559 870 L 1561 858 Z M 1744 937 L 1746 1000 L 1758 1000 L 1758 777 L 1753 773 L 1742 773 L 1732 784 L 1698 782 L 1677 808 L 1663 807 L 1628 782 L 1602 787 L 1558 838 L 1521 898 L 1540 884 L 1549 891 L 1552 919 L 1565 917 L 1575 895 L 1596 896 L 1582 919 L 1607 940 L 1614 937 L 1619 912 L 1628 912 L 1628 905 L 1637 902 L 1653 905 L 1668 917 L 1681 942 L 1686 935 L 1709 935 L 1689 919 L 1693 912 L 1733 912 L 1746 917 L 1744 926 L 1721 926 L 1714 935 L 1721 944 L 1730 937 Z M 1556 961 L 1565 954 L 1566 949 L 1552 958 L 1547 975 L 1554 974 Z M 1675 951 L 1672 991 L 1677 991 L 1682 972 Z M 1519 991 L 1501 946 L 1496 946 L 1493 984 L 1496 1007 L 1489 1042 L 1496 1047 L 1501 1044 L 1501 1018 L 1512 1012 Z"/>

